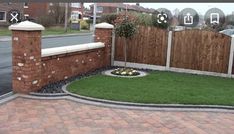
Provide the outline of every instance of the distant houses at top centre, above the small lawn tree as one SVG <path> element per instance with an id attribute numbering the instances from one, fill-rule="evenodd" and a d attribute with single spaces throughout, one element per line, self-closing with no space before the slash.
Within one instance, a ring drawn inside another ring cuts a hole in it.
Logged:
<path id="1" fill-rule="evenodd" d="M 90 17 L 93 16 L 93 4 L 90 5 Z M 139 13 L 147 13 L 153 14 L 156 10 L 152 8 L 144 8 L 140 6 L 139 3 L 136 5 L 129 5 L 123 3 L 97 3 L 97 18 L 100 17 L 102 14 L 108 13 L 119 13 L 122 11 L 132 11 L 132 12 L 139 12 Z"/>

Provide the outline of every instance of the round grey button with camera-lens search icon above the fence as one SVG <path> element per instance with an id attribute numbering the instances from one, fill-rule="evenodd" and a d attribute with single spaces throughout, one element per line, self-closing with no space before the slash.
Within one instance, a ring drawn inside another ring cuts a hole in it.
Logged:
<path id="1" fill-rule="evenodd" d="M 157 13 L 155 13 L 155 16 L 156 23 L 159 27 L 166 28 L 171 24 L 172 14 L 170 10 L 165 8 L 159 8 L 157 9 Z"/>

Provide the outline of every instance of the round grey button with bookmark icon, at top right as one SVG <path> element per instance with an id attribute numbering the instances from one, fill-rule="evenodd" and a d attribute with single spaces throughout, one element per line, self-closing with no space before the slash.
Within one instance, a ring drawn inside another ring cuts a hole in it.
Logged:
<path id="1" fill-rule="evenodd" d="M 225 15 L 218 8 L 211 8 L 205 14 L 205 23 L 208 26 L 221 26 L 225 23 Z"/>

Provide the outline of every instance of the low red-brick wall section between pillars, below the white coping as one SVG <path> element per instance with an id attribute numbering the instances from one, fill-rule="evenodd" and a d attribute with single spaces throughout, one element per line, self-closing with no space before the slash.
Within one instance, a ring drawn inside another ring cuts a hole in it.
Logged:
<path id="1" fill-rule="evenodd" d="M 104 49 L 43 57 L 42 86 L 104 67 Z"/>

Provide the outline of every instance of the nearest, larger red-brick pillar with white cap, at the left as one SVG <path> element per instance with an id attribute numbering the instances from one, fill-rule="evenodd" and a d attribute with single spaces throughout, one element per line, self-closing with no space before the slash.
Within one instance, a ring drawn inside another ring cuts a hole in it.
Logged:
<path id="1" fill-rule="evenodd" d="M 41 88 L 41 31 L 44 27 L 24 21 L 12 30 L 12 88 L 29 93 Z"/>

